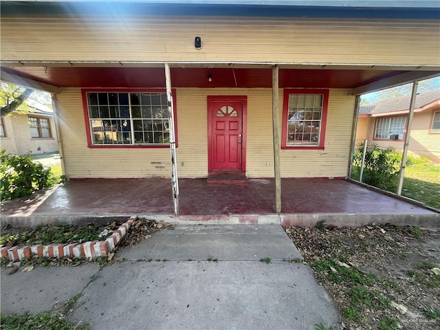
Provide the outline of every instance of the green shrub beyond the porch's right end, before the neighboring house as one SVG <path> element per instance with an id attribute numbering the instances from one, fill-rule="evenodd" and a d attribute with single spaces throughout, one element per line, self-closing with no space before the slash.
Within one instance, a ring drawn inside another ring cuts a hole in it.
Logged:
<path id="1" fill-rule="evenodd" d="M 353 154 L 353 177 L 359 177 L 360 166 L 362 164 L 362 154 L 364 153 L 364 144 L 362 143 Z M 364 173 L 362 182 L 390 190 L 390 184 L 395 182 L 399 176 L 401 164 L 401 154 L 394 148 L 381 149 L 377 144 L 366 147 Z M 410 159 L 407 159 L 406 166 L 410 166 Z M 393 188 L 391 188 L 393 189 Z"/>

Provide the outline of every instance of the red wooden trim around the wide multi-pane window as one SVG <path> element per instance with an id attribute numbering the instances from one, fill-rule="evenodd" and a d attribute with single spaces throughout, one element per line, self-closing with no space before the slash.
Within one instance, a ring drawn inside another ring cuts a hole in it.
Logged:
<path id="1" fill-rule="evenodd" d="M 85 130 L 87 133 L 87 147 L 88 148 L 169 148 L 169 144 L 93 144 L 91 142 L 91 131 L 90 131 L 90 118 L 89 118 L 89 109 L 87 108 L 87 92 L 102 92 L 102 93 L 154 93 L 154 92 L 166 92 L 164 88 L 87 88 L 81 89 L 81 94 L 83 96 L 83 111 L 85 118 Z M 174 131 L 175 131 L 175 140 L 176 140 L 176 148 L 179 146 L 179 140 L 177 138 L 177 106 L 176 106 L 176 90 L 171 89 L 171 94 L 173 96 L 173 113 L 174 113 Z"/>

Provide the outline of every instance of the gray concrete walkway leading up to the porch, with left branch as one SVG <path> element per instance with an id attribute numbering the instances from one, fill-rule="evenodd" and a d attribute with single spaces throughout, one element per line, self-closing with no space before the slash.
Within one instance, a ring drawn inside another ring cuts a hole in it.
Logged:
<path id="1" fill-rule="evenodd" d="M 270 263 L 260 259 L 270 258 Z M 1 312 L 58 308 L 92 329 L 314 329 L 339 316 L 280 225 L 162 230 L 101 269 L 1 269 Z M 294 262 L 290 262 L 294 261 Z M 94 280 L 94 281 L 91 281 Z"/>

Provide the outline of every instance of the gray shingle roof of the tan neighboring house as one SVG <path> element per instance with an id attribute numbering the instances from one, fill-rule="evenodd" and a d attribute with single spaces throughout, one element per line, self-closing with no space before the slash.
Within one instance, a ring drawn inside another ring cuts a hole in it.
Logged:
<path id="1" fill-rule="evenodd" d="M 360 115 L 369 115 L 373 113 L 387 113 L 394 111 L 405 111 L 410 108 L 411 96 L 401 96 L 399 98 L 390 98 L 376 104 L 360 106 Z M 440 100 L 440 89 L 434 91 L 425 91 L 423 93 L 417 94 L 415 98 L 415 109 L 423 107 L 426 104 L 434 102 L 435 100 Z"/>

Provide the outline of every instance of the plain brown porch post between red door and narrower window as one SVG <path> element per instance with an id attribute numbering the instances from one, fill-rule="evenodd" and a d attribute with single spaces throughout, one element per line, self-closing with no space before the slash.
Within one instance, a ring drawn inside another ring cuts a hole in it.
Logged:
<path id="1" fill-rule="evenodd" d="M 278 125 L 278 65 L 272 67 L 272 126 L 274 133 L 275 212 L 281 212 L 280 129 Z"/>

